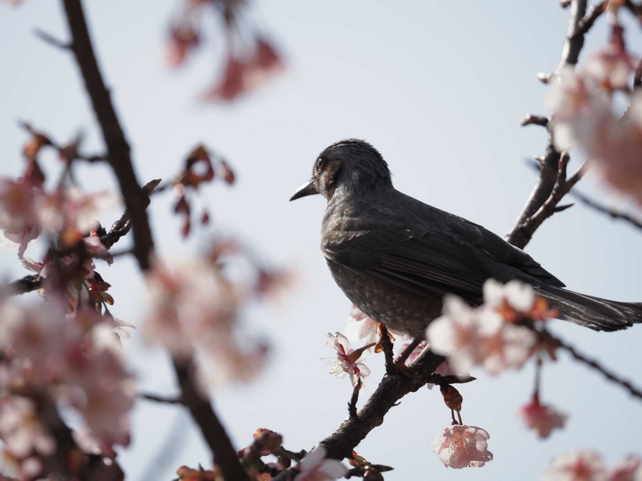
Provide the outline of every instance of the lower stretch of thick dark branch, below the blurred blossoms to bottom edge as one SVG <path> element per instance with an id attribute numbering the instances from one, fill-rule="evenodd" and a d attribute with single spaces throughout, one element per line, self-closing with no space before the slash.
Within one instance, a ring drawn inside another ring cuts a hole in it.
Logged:
<path id="1" fill-rule="evenodd" d="M 214 455 L 214 462 L 220 466 L 223 476 L 234 481 L 250 481 L 210 400 L 196 387 L 192 360 L 173 359 L 173 364 L 182 391 L 182 401 L 200 427 L 205 442 Z"/>

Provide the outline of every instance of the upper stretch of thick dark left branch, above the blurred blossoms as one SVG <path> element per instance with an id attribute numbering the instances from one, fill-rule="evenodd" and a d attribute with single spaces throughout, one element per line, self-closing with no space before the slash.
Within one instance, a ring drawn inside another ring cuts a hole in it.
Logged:
<path id="1" fill-rule="evenodd" d="M 114 169 L 134 227 L 134 255 L 141 269 L 146 271 L 150 267 L 150 253 L 153 249 L 152 232 L 145 212 L 147 196 L 136 179 L 129 144 L 98 68 L 82 4 L 80 0 L 63 0 L 63 4 L 71 31 L 71 49 L 76 56 L 85 88 L 103 133 L 107 146 L 107 160 Z"/>

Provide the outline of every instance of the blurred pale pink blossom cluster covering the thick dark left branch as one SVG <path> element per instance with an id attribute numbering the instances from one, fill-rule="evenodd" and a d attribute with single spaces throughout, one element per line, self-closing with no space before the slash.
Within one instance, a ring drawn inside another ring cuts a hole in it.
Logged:
<path id="1" fill-rule="evenodd" d="M 250 275 L 238 280 L 235 269 Z M 146 280 L 146 341 L 178 357 L 196 353 L 207 366 L 199 369 L 204 387 L 247 381 L 260 372 L 267 345 L 241 332 L 239 316 L 254 300 L 282 287 L 284 274 L 261 266 L 238 242 L 221 239 L 202 258 L 156 262 Z"/>

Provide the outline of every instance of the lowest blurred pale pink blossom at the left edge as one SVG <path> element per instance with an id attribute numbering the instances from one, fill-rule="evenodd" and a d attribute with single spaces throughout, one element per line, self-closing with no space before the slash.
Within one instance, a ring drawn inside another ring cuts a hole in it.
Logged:
<path id="1" fill-rule="evenodd" d="M 23 459 L 31 450 L 50 455 L 56 441 L 40 423 L 35 403 L 22 396 L 0 398 L 0 436 L 13 456 Z"/>

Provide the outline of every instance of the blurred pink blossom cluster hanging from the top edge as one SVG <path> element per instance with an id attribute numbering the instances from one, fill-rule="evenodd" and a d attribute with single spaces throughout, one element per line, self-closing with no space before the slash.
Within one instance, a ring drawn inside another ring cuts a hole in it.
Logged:
<path id="1" fill-rule="evenodd" d="M 243 14 L 242 0 L 180 0 L 180 17 L 171 28 L 169 62 L 182 65 L 187 55 L 202 42 L 200 23 L 205 11 L 213 10 L 223 22 L 227 63 L 223 77 L 205 92 L 205 100 L 232 101 L 265 83 L 283 70 L 271 42 L 257 33 Z M 250 35 L 247 32 L 252 32 Z"/>

